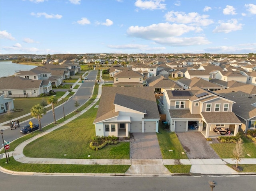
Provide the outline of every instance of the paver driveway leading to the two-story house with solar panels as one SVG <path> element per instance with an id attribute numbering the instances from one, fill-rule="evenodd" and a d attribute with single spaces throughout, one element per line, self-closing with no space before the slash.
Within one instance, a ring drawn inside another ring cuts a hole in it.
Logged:
<path id="1" fill-rule="evenodd" d="M 176 132 L 176 135 L 189 159 L 220 158 L 210 146 L 210 143 L 219 143 L 215 138 L 207 141 L 201 132 Z"/>

